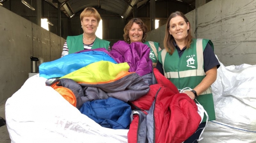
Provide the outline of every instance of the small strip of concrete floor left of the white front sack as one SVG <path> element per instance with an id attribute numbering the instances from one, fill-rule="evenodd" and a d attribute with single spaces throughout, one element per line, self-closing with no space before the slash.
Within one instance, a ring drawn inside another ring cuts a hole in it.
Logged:
<path id="1" fill-rule="evenodd" d="M 5 101 L 0 103 L 0 117 L 5 119 Z M 6 124 L 0 127 L 0 143 L 11 143 Z"/>

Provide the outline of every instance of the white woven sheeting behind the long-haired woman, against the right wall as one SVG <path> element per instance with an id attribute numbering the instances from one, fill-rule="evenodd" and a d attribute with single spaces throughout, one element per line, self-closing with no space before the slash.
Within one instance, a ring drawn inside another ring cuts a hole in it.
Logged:
<path id="1" fill-rule="evenodd" d="M 216 120 L 202 143 L 256 143 L 256 65 L 222 65 L 213 83 Z"/>

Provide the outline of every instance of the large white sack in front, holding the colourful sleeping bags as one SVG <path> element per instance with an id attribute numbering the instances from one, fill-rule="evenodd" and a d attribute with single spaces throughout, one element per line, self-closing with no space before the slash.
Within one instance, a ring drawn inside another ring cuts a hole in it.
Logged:
<path id="1" fill-rule="evenodd" d="M 103 128 L 34 75 L 8 98 L 12 143 L 127 143 L 128 130 Z"/>

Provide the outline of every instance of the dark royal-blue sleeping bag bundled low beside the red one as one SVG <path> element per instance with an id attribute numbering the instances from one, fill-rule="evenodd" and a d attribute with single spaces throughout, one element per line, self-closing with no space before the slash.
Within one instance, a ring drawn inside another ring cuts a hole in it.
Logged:
<path id="1" fill-rule="evenodd" d="M 112 97 L 87 101 L 79 111 L 105 128 L 128 129 L 131 123 L 131 106 Z"/>

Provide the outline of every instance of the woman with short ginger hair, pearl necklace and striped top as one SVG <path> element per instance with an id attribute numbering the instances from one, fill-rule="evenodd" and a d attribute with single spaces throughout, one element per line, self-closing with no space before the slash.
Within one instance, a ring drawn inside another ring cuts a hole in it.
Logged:
<path id="1" fill-rule="evenodd" d="M 95 8 L 85 8 L 80 14 L 83 34 L 67 37 L 61 57 L 84 49 L 105 48 L 106 50 L 109 50 L 110 42 L 98 38 L 95 34 L 97 27 L 99 26 L 100 19 L 100 14 Z"/>

